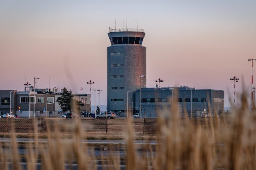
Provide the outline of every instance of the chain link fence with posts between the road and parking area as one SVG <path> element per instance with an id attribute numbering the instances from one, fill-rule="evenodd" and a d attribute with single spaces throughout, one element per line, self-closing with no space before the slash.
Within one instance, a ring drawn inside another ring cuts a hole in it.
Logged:
<path id="1" fill-rule="evenodd" d="M 182 121 L 185 118 L 180 118 Z M 190 119 L 190 118 L 189 118 Z M 192 119 L 195 125 L 204 125 L 205 119 Z M 121 119 L 90 119 L 80 118 L 0 118 L 0 132 L 17 132 L 17 133 L 33 133 L 35 125 L 39 133 L 59 132 L 72 133 L 75 125 L 79 125 L 82 132 L 85 133 L 101 133 L 101 134 L 122 134 L 126 131 L 126 118 Z M 78 124 L 77 124 L 78 123 Z M 168 123 L 168 119 L 165 119 Z M 143 118 L 133 119 L 133 129 L 136 135 L 147 134 L 153 135 L 157 133 L 157 119 Z"/>

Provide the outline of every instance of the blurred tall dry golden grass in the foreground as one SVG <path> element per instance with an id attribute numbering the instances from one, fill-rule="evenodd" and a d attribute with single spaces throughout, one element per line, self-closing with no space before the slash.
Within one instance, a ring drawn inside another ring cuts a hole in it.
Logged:
<path id="1" fill-rule="evenodd" d="M 107 169 L 115 170 L 121 168 L 120 160 L 125 161 L 128 170 L 256 169 L 256 112 L 250 113 L 246 98 L 244 93 L 241 96 L 241 107 L 233 108 L 229 120 L 226 117 L 220 119 L 214 113 L 214 117 L 204 119 L 203 125 L 199 123 L 196 126 L 195 120 L 189 117 L 180 119 L 178 108 L 172 108 L 172 112 L 166 113 L 168 121 L 161 117 L 157 119 L 157 134 L 151 137 L 157 141 L 155 148 L 142 146 L 150 150 L 142 155 L 138 155 L 138 148 L 134 144 L 137 136 L 134 120 L 127 119 L 126 125 L 123 125 L 125 134 L 118 134 L 126 141 L 124 158 L 116 152 L 108 157 L 90 154 L 88 146 L 80 143 L 84 132 L 79 119 L 75 119 L 70 127 L 72 135 L 69 138 L 72 141 L 66 140 L 58 126 L 55 126 L 54 133 L 48 133 L 47 147 L 38 142 L 40 134 L 37 133 L 38 126 L 35 123 L 35 143 L 26 146 L 27 169 L 37 169 L 38 158 L 41 159 L 41 168 L 45 170 L 72 169 L 73 161 L 78 164 L 79 170 L 96 169 L 93 160 L 108 160 Z M 11 150 L 0 148 L 1 170 L 9 169 L 8 162 L 11 162 L 13 169 L 22 169 L 15 133 L 11 137 Z"/>

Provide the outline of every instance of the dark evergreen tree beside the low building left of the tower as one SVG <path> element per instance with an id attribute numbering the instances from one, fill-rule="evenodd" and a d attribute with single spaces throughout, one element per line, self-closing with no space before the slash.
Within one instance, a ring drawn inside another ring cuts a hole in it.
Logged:
<path id="1" fill-rule="evenodd" d="M 63 112 L 71 111 L 72 109 L 72 90 L 67 90 L 65 87 L 61 89 L 61 96 L 58 97 L 56 102 L 59 103 Z"/>

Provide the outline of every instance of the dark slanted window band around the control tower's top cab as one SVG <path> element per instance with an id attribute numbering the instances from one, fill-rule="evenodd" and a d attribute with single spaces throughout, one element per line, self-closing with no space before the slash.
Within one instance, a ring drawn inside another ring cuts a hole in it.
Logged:
<path id="1" fill-rule="evenodd" d="M 140 44 L 142 45 L 142 37 L 112 37 L 109 38 L 111 45 L 113 44 Z"/>

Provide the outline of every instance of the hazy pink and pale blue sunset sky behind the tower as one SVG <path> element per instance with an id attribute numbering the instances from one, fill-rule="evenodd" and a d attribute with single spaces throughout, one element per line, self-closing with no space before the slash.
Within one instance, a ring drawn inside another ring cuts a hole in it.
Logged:
<path id="1" fill-rule="evenodd" d="M 115 20 L 123 28 L 126 18 L 128 28 L 137 28 L 138 20 L 146 33 L 148 87 L 161 78 L 162 87 L 224 90 L 228 107 L 236 76 L 236 95 L 242 77 L 250 94 L 255 0 L 0 0 L 0 90 L 24 90 L 25 77 L 29 83 L 40 78 L 38 88 L 48 87 L 50 77 L 50 87 L 58 87 L 60 77 L 61 88 L 90 93 L 86 82 L 92 80 L 106 105 L 107 33 Z"/>

